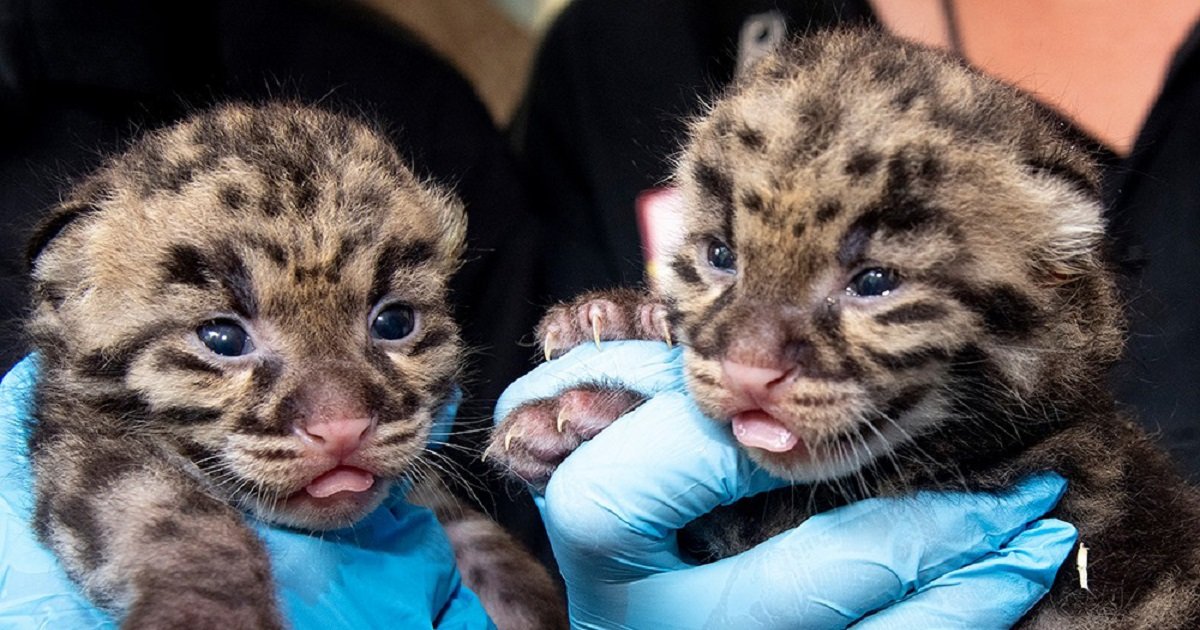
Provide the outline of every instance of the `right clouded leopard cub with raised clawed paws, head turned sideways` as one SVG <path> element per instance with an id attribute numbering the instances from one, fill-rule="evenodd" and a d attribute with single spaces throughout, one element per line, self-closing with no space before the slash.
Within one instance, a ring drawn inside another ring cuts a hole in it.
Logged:
<path id="1" fill-rule="evenodd" d="M 1098 174 L 1064 125 L 948 55 L 823 34 L 695 121 L 676 184 L 685 228 L 658 292 L 584 295 L 539 336 L 557 354 L 594 329 L 670 335 L 701 407 L 797 482 L 696 523 L 701 554 L 803 506 L 1051 469 L 1090 589 L 1068 563 L 1024 625 L 1200 626 L 1200 503 L 1109 394 L 1122 338 Z M 545 482 L 630 403 L 532 402 L 490 455 Z"/>

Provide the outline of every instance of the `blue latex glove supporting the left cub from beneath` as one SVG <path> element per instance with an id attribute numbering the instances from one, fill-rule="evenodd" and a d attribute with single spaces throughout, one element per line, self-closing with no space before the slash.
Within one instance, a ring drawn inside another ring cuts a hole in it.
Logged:
<path id="1" fill-rule="evenodd" d="M 0 384 L 0 628 L 115 629 L 29 528 L 32 480 L 23 425 L 36 376 L 25 359 Z M 397 496 L 353 529 L 320 538 L 251 524 L 266 542 L 292 628 L 494 628 L 462 586 L 433 514 Z"/>

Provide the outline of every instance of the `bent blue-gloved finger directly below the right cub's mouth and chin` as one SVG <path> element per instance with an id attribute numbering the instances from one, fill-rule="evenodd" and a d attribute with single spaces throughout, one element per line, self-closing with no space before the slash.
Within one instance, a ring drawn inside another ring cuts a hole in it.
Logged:
<path id="1" fill-rule="evenodd" d="M 560 564 L 586 562 L 602 578 L 632 580 L 685 566 L 674 536 L 697 516 L 786 484 L 686 392 L 668 391 L 571 454 L 539 505 Z"/>

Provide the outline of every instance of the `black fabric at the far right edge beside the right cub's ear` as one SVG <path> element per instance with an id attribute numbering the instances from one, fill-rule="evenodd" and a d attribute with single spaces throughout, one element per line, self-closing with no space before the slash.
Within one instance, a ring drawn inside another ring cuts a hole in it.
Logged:
<path id="1" fill-rule="evenodd" d="M 1200 482 L 1200 24 L 1171 64 L 1129 157 L 1110 174 L 1114 234 L 1129 271 L 1130 406 Z"/>

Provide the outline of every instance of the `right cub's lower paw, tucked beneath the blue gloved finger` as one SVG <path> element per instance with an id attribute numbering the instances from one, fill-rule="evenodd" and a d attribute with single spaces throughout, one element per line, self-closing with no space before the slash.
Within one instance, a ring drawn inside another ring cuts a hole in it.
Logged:
<path id="1" fill-rule="evenodd" d="M 554 398 L 527 402 L 496 427 L 484 457 L 506 474 L 544 490 L 571 451 L 644 400 L 626 389 L 580 385 Z"/>

